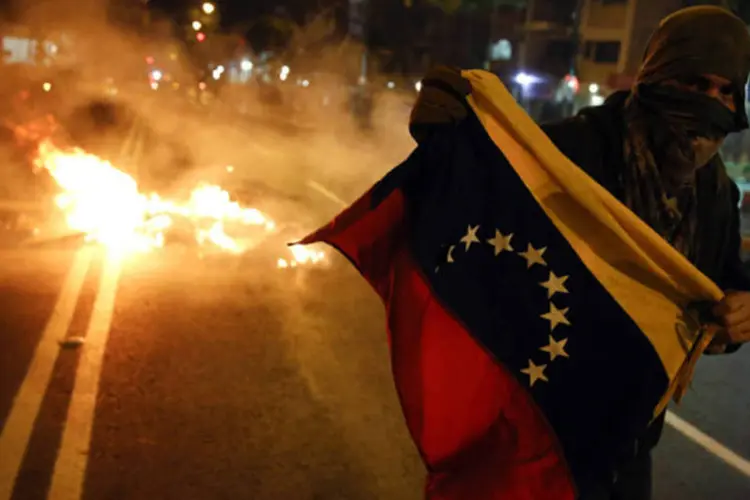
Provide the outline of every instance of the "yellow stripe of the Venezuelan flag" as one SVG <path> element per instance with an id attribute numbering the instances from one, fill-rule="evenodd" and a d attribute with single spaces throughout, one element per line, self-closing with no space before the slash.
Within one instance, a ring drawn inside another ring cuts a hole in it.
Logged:
<path id="1" fill-rule="evenodd" d="M 713 330 L 684 321 L 694 301 L 723 292 L 625 205 L 564 156 L 486 71 L 464 71 L 474 112 L 580 259 L 648 337 L 670 380 L 655 415 L 684 391 Z M 585 147 L 585 145 L 583 145 Z M 613 324 L 613 328 L 616 326 Z M 602 342 L 607 342 L 602 331 Z M 702 333 L 702 335 L 699 335 Z M 614 337 L 613 337 L 614 338 Z M 639 360 L 633 360 L 637 370 Z"/>

